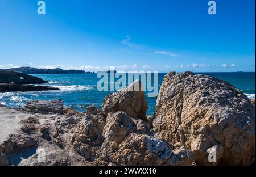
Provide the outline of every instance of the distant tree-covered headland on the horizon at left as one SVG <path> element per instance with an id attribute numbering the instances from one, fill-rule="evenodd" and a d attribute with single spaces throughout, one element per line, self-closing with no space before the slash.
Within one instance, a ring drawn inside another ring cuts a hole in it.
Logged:
<path id="1" fill-rule="evenodd" d="M 4 69 L 6 71 L 14 71 L 24 74 L 92 74 L 94 72 L 86 72 L 84 70 L 64 70 L 60 68 L 56 69 L 42 69 L 42 68 L 32 68 L 32 67 L 19 67 Z"/>

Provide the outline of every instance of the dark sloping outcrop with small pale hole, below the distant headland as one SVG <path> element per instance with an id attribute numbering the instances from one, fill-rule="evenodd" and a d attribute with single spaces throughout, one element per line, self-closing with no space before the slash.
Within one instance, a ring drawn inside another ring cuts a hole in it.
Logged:
<path id="1" fill-rule="evenodd" d="M 27 75 L 23 73 L 16 73 L 14 71 L 0 70 L 0 83 L 11 83 L 16 84 L 40 84 L 47 83 L 43 79 Z"/>

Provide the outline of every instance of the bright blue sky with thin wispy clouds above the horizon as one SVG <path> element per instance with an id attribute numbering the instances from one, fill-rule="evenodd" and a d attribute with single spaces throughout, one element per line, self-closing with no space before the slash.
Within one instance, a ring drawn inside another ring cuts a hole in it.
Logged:
<path id="1" fill-rule="evenodd" d="M 255 71 L 255 1 L 0 0 L 0 68 Z"/>

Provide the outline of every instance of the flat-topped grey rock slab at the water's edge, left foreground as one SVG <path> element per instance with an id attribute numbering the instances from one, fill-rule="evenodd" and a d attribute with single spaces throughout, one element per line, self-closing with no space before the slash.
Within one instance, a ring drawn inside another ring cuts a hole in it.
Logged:
<path id="1" fill-rule="evenodd" d="M 61 99 L 57 100 L 31 100 L 25 104 L 24 109 L 28 112 L 34 113 L 59 113 L 63 114 L 63 102 Z"/>

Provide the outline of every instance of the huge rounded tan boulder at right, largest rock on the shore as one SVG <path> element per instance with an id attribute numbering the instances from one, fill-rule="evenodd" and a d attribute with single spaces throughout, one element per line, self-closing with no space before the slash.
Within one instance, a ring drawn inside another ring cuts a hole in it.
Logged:
<path id="1" fill-rule="evenodd" d="M 250 165 L 255 159 L 255 107 L 221 79 L 168 73 L 157 99 L 154 130 L 172 145 L 188 147 L 198 165 Z M 208 161 L 212 151 L 217 162 Z"/>

